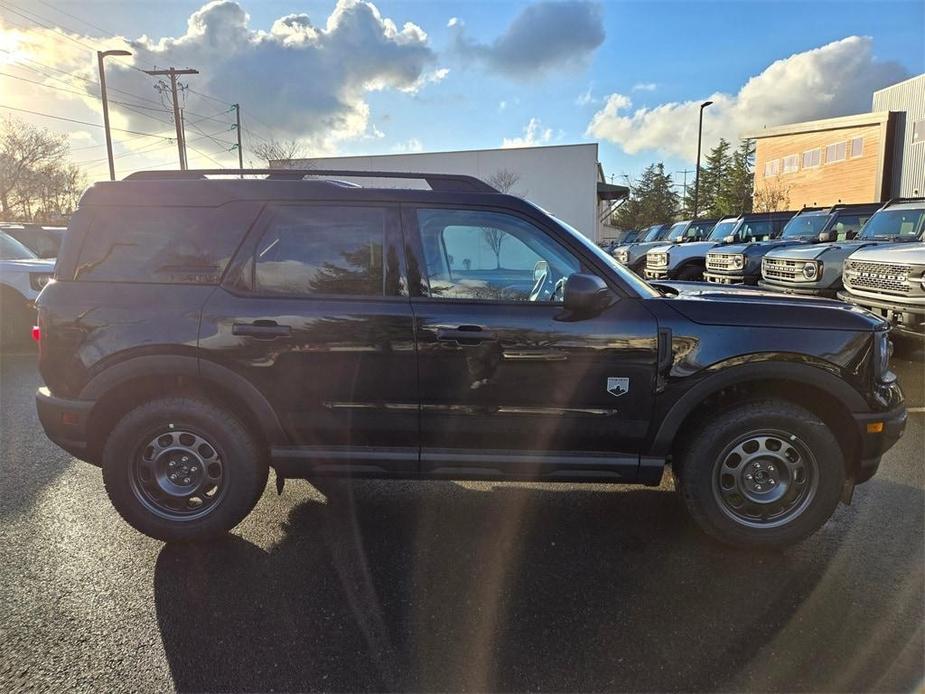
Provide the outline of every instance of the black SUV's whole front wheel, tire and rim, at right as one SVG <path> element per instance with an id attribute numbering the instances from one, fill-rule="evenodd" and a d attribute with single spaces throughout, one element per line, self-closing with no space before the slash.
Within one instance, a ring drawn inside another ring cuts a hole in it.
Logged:
<path id="1" fill-rule="evenodd" d="M 695 432 L 675 456 L 679 492 L 697 524 L 721 542 L 790 545 L 838 506 L 841 447 L 808 410 L 781 400 L 746 402 Z"/>

